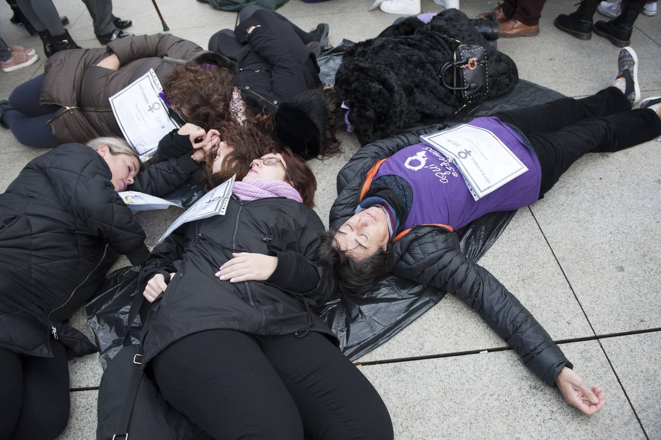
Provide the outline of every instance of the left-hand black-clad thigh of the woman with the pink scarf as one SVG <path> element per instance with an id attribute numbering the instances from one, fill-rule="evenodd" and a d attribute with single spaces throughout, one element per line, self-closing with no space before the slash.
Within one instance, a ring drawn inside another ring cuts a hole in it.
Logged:
<path id="1" fill-rule="evenodd" d="M 214 439 L 303 438 L 301 417 L 256 336 L 206 330 L 151 362 L 163 397 Z"/>

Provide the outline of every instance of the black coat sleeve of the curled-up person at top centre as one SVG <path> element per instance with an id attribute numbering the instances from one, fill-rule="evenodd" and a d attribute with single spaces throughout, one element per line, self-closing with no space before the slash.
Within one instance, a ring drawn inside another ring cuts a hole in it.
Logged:
<path id="1" fill-rule="evenodd" d="M 268 29 L 254 28 L 248 35 L 251 47 L 271 65 L 271 89 L 281 101 L 305 92 L 303 65 L 297 62 L 287 46 Z"/>

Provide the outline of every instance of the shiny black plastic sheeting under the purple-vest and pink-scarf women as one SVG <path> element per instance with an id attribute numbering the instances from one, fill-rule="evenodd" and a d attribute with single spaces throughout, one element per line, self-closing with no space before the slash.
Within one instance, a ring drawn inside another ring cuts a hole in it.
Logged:
<path id="1" fill-rule="evenodd" d="M 561 97 L 562 94 L 551 89 L 529 81 L 520 81 L 516 89 L 506 96 L 464 109 L 447 122 L 467 122 L 478 116 L 541 104 Z M 414 127 L 409 131 L 420 128 L 422 127 Z M 416 139 L 412 133 L 398 136 L 409 143 Z M 369 145 L 366 145 L 360 149 L 354 158 L 368 147 Z M 360 164 L 352 163 L 354 158 L 338 175 L 338 193 L 358 172 L 356 165 Z M 490 213 L 459 229 L 457 233 L 461 237 L 461 250 L 473 261 L 479 260 L 504 231 L 512 217 L 514 211 Z M 106 277 L 97 296 L 86 306 L 89 327 L 95 335 L 104 369 L 122 346 L 128 326 L 128 312 L 138 287 L 138 274 L 139 266 L 129 266 L 112 272 Z M 434 307 L 444 295 L 445 293 L 438 289 L 390 275 L 365 295 L 343 296 L 329 301 L 320 314 L 338 336 L 344 354 L 354 361 L 392 338 L 418 316 Z M 139 336 L 138 328 L 139 316 L 132 326 L 134 344 Z"/>

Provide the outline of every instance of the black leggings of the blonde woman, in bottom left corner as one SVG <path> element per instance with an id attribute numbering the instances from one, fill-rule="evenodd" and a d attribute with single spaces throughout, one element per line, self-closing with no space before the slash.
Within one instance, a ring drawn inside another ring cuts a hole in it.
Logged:
<path id="1" fill-rule="evenodd" d="M 67 350 L 51 340 L 54 357 L 0 348 L 0 440 L 54 439 L 69 422 Z"/>

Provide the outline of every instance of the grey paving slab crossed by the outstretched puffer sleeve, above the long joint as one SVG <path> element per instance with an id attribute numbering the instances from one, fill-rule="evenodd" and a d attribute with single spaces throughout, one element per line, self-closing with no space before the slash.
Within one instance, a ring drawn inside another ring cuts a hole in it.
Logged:
<path id="1" fill-rule="evenodd" d="M 520 209 L 480 264 L 516 295 L 554 340 L 593 336 L 528 209 Z M 436 307 L 358 361 L 496 347 L 507 344 L 477 313 L 446 295 Z"/>

